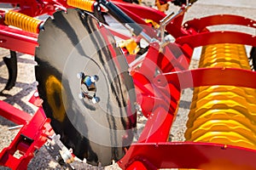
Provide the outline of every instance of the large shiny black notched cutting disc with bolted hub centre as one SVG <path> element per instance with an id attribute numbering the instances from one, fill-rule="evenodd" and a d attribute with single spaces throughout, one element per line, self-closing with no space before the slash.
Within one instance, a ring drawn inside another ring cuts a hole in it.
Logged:
<path id="1" fill-rule="evenodd" d="M 68 9 L 45 21 L 38 43 L 38 93 L 61 142 L 92 165 L 118 161 L 133 139 L 136 95 L 110 32 L 90 14 Z"/>

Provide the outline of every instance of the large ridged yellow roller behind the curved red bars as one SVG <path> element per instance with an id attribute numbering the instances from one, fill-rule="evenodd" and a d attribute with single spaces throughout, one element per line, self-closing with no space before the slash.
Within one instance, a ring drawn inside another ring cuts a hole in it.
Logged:
<path id="1" fill-rule="evenodd" d="M 199 67 L 250 70 L 246 50 L 238 44 L 202 48 Z M 222 77 L 219 77 L 222 78 Z M 185 138 L 256 149 L 256 90 L 234 86 L 195 88 Z"/>

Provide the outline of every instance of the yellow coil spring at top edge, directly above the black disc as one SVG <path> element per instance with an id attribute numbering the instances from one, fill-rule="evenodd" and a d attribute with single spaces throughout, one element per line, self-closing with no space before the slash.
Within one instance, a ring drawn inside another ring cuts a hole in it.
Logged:
<path id="1" fill-rule="evenodd" d="M 71 7 L 81 8 L 88 12 L 93 12 L 94 3 L 93 0 L 67 0 L 67 4 Z"/>

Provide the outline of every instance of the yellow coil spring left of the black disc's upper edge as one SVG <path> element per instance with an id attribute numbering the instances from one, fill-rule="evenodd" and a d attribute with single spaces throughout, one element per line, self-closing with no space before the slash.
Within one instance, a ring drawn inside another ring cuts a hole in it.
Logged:
<path id="1" fill-rule="evenodd" d="M 42 21 L 34 19 L 26 14 L 20 14 L 15 11 L 9 11 L 4 16 L 4 24 L 8 26 L 15 26 L 24 31 L 38 33 L 39 25 Z"/>

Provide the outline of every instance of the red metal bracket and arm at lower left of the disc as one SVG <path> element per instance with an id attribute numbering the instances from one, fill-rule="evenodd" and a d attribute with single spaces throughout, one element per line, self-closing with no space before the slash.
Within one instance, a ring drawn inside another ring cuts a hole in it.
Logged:
<path id="1" fill-rule="evenodd" d="M 49 118 L 44 115 L 43 109 L 39 109 L 34 116 L 14 109 L 12 106 L 1 101 L 1 108 L 6 105 L 9 111 L 0 111 L 2 116 L 11 117 L 9 120 L 24 124 L 15 139 L 0 153 L 0 165 L 12 169 L 26 169 L 27 164 L 36 154 L 38 149 L 52 135 L 52 127 L 49 125 Z M 15 154 L 20 154 L 16 157 Z"/>

